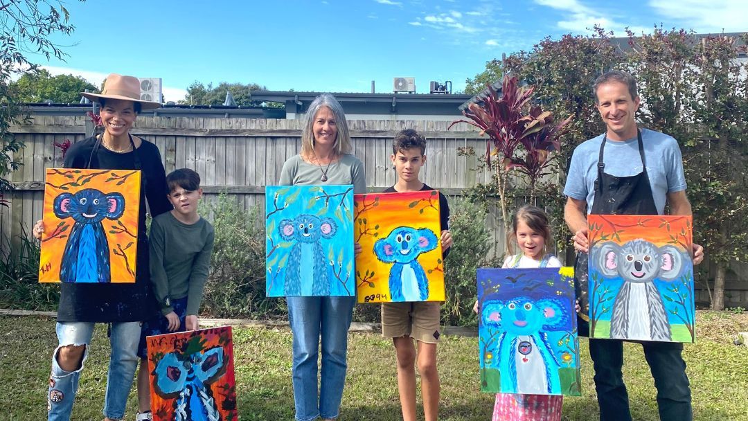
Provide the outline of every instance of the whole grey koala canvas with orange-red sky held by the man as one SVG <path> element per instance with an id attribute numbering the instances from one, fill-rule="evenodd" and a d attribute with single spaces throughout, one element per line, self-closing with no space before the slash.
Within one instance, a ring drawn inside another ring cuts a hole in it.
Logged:
<path id="1" fill-rule="evenodd" d="M 589 337 L 695 342 L 692 220 L 589 215 Z"/>

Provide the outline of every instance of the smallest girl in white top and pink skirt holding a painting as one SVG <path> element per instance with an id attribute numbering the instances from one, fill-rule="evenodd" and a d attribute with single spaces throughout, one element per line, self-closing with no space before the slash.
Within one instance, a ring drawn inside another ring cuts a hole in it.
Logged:
<path id="1" fill-rule="evenodd" d="M 515 253 L 516 239 L 519 253 Z M 515 215 L 512 233 L 506 237 L 509 256 L 502 268 L 560 268 L 561 262 L 547 252 L 551 245 L 548 215 L 536 206 L 522 206 Z M 515 254 L 514 254 L 515 253 Z M 478 301 L 473 310 L 478 312 Z M 562 396 L 497 393 L 493 421 L 560 421 Z"/>

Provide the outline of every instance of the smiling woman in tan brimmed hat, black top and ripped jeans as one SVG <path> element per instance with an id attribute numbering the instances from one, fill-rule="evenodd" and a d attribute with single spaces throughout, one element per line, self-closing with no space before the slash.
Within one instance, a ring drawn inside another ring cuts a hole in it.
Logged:
<path id="1" fill-rule="evenodd" d="M 122 420 L 127 396 L 138 366 L 141 322 L 156 313 L 150 294 L 148 243 L 145 233 L 145 200 L 153 216 L 168 212 L 166 175 L 156 145 L 129 134 L 138 113 L 158 108 L 157 102 L 140 99 L 140 82 L 112 73 L 102 93 L 82 93 L 98 102 L 104 132 L 73 144 L 65 168 L 141 170 L 138 256 L 135 283 L 62 283 L 57 318 L 58 348 L 52 357 L 47 410 L 49 420 L 70 420 L 80 373 L 88 355 L 95 323 L 107 323 L 111 357 L 104 402 L 105 421 Z M 34 226 L 41 238 L 43 221 Z"/>

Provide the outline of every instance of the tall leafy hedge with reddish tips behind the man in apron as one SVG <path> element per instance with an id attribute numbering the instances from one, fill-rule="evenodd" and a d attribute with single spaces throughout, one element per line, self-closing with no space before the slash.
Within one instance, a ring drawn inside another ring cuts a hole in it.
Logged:
<path id="1" fill-rule="evenodd" d="M 530 52 L 488 61 L 486 70 L 468 79 L 476 93 L 509 73 L 535 88 L 535 98 L 555 115 L 570 115 L 562 139 L 557 176 L 544 179 L 542 204 L 550 205 L 554 231 L 565 232 L 562 188 L 574 147 L 605 130 L 592 93 L 592 82 L 607 70 L 632 73 L 638 82 L 642 126 L 678 139 L 684 156 L 688 196 L 693 206 L 694 241 L 705 245 L 702 277 L 712 280 L 713 307 L 723 307 L 723 286 L 730 261 L 748 259 L 748 61 L 742 43 L 730 37 L 699 38 L 693 31 L 654 28 L 652 34 L 628 32 L 631 49 L 611 43 L 613 34 L 595 28 L 591 36 L 545 38 Z M 515 184 L 515 189 L 521 187 Z M 516 193 L 515 193 L 516 194 Z"/>

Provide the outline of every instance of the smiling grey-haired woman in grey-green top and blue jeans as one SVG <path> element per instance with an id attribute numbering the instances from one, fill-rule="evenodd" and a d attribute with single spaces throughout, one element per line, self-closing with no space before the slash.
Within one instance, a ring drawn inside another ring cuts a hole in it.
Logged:
<path id="1" fill-rule="evenodd" d="M 281 170 L 281 185 L 352 184 L 366 191 L 364 165 L 349 152 L 351 138 L 340 102 L 318 96 L 307 111 L 301 153 Z M 360 253 L 360 246 L 356 246 Z M 346 381 L 346 350 L 355 297 L 287 297 L 293 333 L 293 397 L 296 420 L 335 420 Z M 322 374 L 317 394 L 317 360 L 322 339 Z"/>

